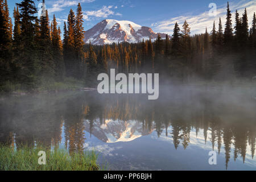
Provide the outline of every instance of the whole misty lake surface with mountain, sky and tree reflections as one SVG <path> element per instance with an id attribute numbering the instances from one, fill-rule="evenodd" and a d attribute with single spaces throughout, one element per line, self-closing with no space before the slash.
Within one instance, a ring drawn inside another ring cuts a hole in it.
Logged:
<path id="1" fill-rule="evenodd" d="M 256 100 L 233 88 L 147 95 L 65 92 L 0 100 L 0 142 L 94 150 L 117 170 L 256 169 Z M 209 151 L 217 165 L 209 165 Z"/>

